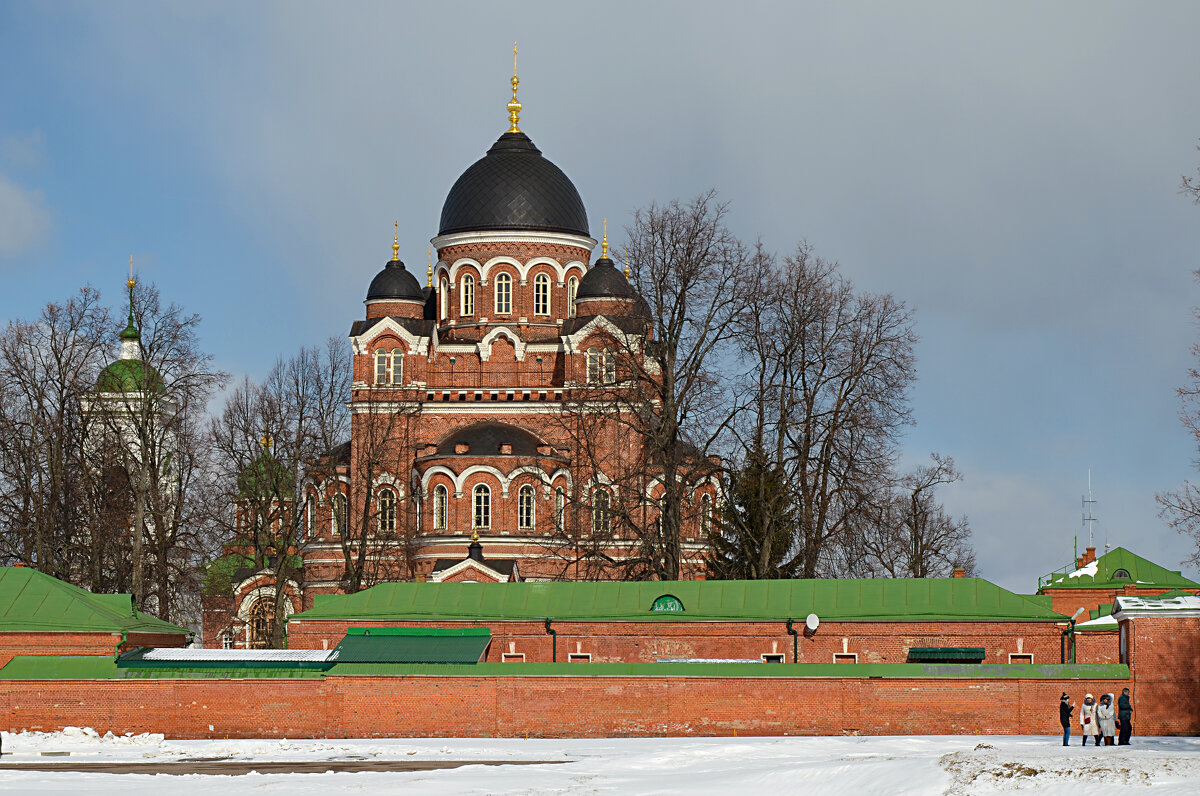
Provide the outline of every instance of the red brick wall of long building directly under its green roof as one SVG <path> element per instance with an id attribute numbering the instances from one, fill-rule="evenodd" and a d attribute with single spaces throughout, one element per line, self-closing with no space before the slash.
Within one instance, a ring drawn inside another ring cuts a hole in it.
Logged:
<path id="1" fill-rule="evenodd" d="M 331 650 L 348 627 L 486 627 L 492 632 L 486 663 L 503 656 L 524 656 L 526 663 L 548 663 L 553 640 L 536 622 L 347 622 L 300 620 L 288 623 L 288 646 Z M 782 654 L 792 663 L 792 636 L 779 622 L 553 622 L 558 662 L 590 656 L 593 663 L 655 663 L 660 658 L 754 658 Z M 812 638 L 800 632 L 799 663 L 839 663 L 835 656 L 857 654 L 857 663 L 905 663 L 911 647 L 983 647 L 984 663 L 1007 664 L 1010 654 L 1032 656 L 1030 663 L 1060 663 L 1061 628 L 1054 622 L 824 622 Z M 520 660 L 520 658 L 517 658 Z M 587 660 L 587 658 L 584 658 Z M 1079 659 L 1081 663 L 1092 663 Z"/>

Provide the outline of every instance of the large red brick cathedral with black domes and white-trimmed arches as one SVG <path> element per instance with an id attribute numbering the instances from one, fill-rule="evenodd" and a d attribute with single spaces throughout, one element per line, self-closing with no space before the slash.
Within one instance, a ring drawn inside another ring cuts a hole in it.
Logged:
<path id="1" fill-rule="evenodd" d="M 649 310 L 606 234 L 590 263 L 580 193 L 520 130 L 512 84 L 511 127 L 446 196 L 426 285 L 394 243 L 367 287 L 352 438 L 305 480 L 287 614 L 346 591 L 348 556 L 364 559 L 350 537 L 368 539 L 361 587 L 602 580 L 628 576 L 638 528 L 655 527 L 661 486 L 625 421 L 638 390 L 622 361 L 650 340 Z M 716 481 L 691 498 L 683 571 L 696 577 Z M 264 573 L 232 574 L 233 605 L 205 611 L 209 645 L 254 644 L 275 597 Z"/>

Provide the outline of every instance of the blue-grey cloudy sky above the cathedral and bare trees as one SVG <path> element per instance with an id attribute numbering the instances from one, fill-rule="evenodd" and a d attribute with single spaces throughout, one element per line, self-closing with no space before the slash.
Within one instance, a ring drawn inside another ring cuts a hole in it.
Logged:
<path id="1" fill-rule="evenodd" d="M 1194 471 L 1196 30 L 1094 0 L 4 2 L 0 318 L 118 303 L 132 253 L 236 376 L 346 335 L 392 220 L 424 275 L 517 40 L 521 126 L 594 237 L 715 187 L 743 238 L 916 310 L 905 456 L 960 465 L 982 575 L 1069 563 L 1088 469 L 1102 550 L 1178 568 L 1154 493 Z"/>

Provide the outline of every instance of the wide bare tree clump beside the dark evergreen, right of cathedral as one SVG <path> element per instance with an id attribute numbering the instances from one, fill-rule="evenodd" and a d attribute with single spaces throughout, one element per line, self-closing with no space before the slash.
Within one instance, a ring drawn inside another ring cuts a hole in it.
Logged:
<path id="1" fill-rule="evenodd" d="M 754 262 L 738 286 L 744 373 L 731 424 L 743 505 L 725 513 L 725 559 L 714 563 L 738 576 L 841 574 L 842 546 L 893 478 L 912 317 L 889 294 L 856 292 L 808 244 L 781 263 L 761 250 Z"/>

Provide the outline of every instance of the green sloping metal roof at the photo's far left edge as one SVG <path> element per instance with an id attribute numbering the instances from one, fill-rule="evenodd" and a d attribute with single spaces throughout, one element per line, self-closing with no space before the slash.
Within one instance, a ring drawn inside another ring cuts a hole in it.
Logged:
<path id="1" fill-rule="evenodd" d="M 128 594 L 92 594 L 30 567 L 0 567 L 0 633 L 175 633 Z"/>

